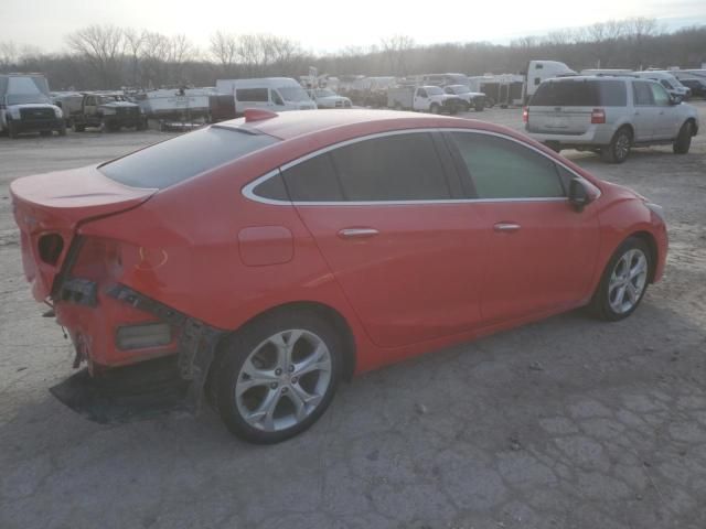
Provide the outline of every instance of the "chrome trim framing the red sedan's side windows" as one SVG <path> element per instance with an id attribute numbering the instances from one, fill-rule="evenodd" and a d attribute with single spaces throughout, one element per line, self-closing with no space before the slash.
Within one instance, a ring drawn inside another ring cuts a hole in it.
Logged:
<path id="1" fill-rule="evenodd" d="M 515 138 L 512 138 L 510 136 L 505 136 L 499 132 L 493 132 L 490 130 L 478 130 L 478 129 L 466 129 L 466 128 L 446 128 L 446 127 L 435 127 L 435 128 L 422 128 L 422 129 L 400 129 L 400 130 L 389 130 L 389 131 L 385 131 L 385 132 L 375 132 L 373 134 L 367 134 L 367 136 L 362 136 L 360 138 L 352 138 L 350 140 L 345 140 L 345 141 L 340 141 L 338 143 L 333 143 L 331 145 L 324 147 L 322 149 L 319 149 L 317 151 L 310 152 L 309 154 L 304 154 L 301 158 L 298 158 L 297 160 L 292 160 L 291 162 L 287 162 L 282 165 L 280 165 L 277 169 L 274 169 L 271 171 L 268 171 L 267 173 L 265 173 L 263 176 L 258 176 L 257 179 L 255 179 L 254 181 L 252 181 L 250 183 L 248 183 L 247 185 L 245 185 L 242 190 L 243 196 L 245 196 L 246 198 L 249 198 L 250 201 L 254 202 L 259 202 L 261 204 L 269 204 L 269 205 L 274 205 L 274 206 L 290 206 L 290 205 L 295 205 L 295 206 L 410 206 L 410 205 L 428 205 L 428 204 L 475 204 L 475 203 L 501 203 L 501 202 L 568 202 L 568 197 L 567 196 L 547 196 L 547 197 L 525 197 L 525 198 L 439 198 L 439 199 L 431 199 L 431 201 L 279 201 L 276 198 L 267 198 L 264 196 L 259 196 L 256 195 L 254 190 L 255 187 L 257 187 L 259 184 L 261 184 L 263 182 L 265 182 L 268 179 L 271 179 L 272 176 L 276 176 L 277 174 L 280 174 L 281 171 L 286 171 L 289 168 L 292 168 L 295 165 L 298 165 L 300 163 L 306 162 L 307 160 L 310 160 L 314 156 L 318 156 L 320 154 L 324 154 L 327 152 L 330 152 L 334 149 L 339 149 L 342 147 L 346 147 L 353 143 L 359 143 L 361 141 L 366 141 L 366 140 L 372 140 L 375 138 L 385 138 L 388 136 L 399 136 L 399 134 L 413 134 L 413 133 L 419 133 L 419 132 L 466 132 L 466 133 L 473 133 L 473 134 L 486 134 L 486 136 L 494 136 L 498 138 L 502 138 L 504 140 L 509 140 L 509 141 L 514 141 L 515 143 L 518 143 L 527 149 L 531 149 L 533 151 L 535 151 L 536 153 L 543 155 L 544 158 L 546 158 L 547 160 L 560 165 L 561 168 L 564 168 L 566 171 L 568 171 L 571 175 L 574 175 L 575 177 L 587 182 L 588 184 L 592 185 L 593 187 L 596 187 L 598 190 L 598 197 L 600 197 L 601 195 L 601 191 L 598 186 L 595 186 L 592 183 L 588 182 L 584 176 L 581 176 L 580 174 L 578 174 L 576 171 L 574 171 L 571 168 L 569 168 L 568 165 L 564 164 L 561 161 L 559 160 L 555 160 L 552 156 L 548 156 L 545 152 L 543 152 L 542 150 L 537 149 L 534 145 L 531 145 L 528 143 L 525 143 L 521 140 L 517 140 Z M 598 198 L 597 197 L 597 198 Z"/>

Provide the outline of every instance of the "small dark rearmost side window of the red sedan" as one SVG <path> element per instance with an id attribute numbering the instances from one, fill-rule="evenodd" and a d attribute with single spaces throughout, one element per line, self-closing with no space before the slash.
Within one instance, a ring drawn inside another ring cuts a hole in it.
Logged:
<path id="1" fill-rule="evenodd" d="M 339 202 L 343 193 L 328 153 L 319 154 L 282 171 L 285 185 L 295 202 Z"/>

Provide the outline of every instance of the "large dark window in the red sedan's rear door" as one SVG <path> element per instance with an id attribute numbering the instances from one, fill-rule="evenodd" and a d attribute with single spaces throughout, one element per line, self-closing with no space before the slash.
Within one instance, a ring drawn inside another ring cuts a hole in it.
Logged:
<path id="1" fill-rule="evenodd" d="M 331 156 L 349 201 L 450 197 L 431 134 L 374 138 L 335 149 Z"/>

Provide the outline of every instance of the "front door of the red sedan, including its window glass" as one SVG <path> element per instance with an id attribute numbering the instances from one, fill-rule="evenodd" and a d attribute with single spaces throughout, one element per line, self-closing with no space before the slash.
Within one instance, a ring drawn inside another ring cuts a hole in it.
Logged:
<path id="1" fill-rule="evenodd" d="M 451 132 L 490 235 L 482 290 L 485 323 L 576 304 L 589 294 L 599 245 L 593 208 L 566 197 L 575 175 L 528 145 L 495 134 Z"/>

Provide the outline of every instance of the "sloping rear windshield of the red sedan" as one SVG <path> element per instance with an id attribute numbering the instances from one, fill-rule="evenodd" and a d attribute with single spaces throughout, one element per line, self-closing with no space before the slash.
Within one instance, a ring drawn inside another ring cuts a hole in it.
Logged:
<path id="1" fill-rule="evenodd" d="M 275 142 L 271 136 L 208 127 L 105 163 L 99 170 L 131 187 L 163 190 Z"/>

